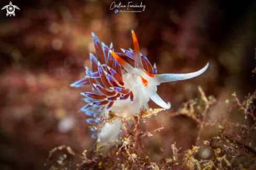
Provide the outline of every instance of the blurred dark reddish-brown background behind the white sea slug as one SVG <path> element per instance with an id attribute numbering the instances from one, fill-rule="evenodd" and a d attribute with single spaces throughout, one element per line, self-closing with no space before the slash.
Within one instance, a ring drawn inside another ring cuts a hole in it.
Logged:
<path id="1" fill-rule="evenodd" d="M 161 132 L 143 143 L 154 161 L 171 156 L 171 144 L 191 149 L 197 124 L 186 117 L 171 118 L 182 103 L 199 97 L 201 85 L 207 96 L 240 100 L 255 89 L 255 1 L 133 1 L 146 5 L 141 13 L 115 13 L 110 5 L 129 1 L 12 1 L 15 16 L 0 11 L 0 169 L 43 169 L 51 149 L 69 145 L 76 153 L 95 143 L 87 129 L 80 92 L 91 87 L 69 85 L 85 76 L 94 53 L 91 32 L 107 46 L 133 48 L 135 30 L 141 53 L 157 64 L 158 73 L 208 70 L 191 80 L 164 83 L 158 94 L 172 108 L 147 119 L 142 128 Z M 130 4 L 130 5 L 131 5 Z M 9 1 L 0 2 L 0 7 Z M 149 106 L 158 108 L 152 101 Z M 224 114 L 217 107 L 212 119 Z M 209 129 L 208 129 L 209 130 Z M 216 135 L 202 133 L 202 140 Z"/>

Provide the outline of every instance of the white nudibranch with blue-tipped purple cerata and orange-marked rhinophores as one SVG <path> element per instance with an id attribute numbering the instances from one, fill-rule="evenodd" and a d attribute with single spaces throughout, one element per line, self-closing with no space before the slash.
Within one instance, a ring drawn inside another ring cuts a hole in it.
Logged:
<path id="1" fill-rule="evenodd" d="M 140 53 L 139 43 L 133 30 L 131 30 L 134 50 L 124 50 L 123 53 L 114 52 L 113 44 L 109 48 L 98 40 L 92 32 L 96 56 L 90 53 L 91 69 L 85 66 L 86 76 L 71 87 L 92 86 L 92 92 L 81 93 L 87 104 L 80 109 L 88 116 L 86 121 L 95 125 L 109 110 L 116 116 L 126 118 L 136 116 L 140 109 L 149 109 L 148 101 L 164 109 L 170 109 L 171 104 L 165 103 L 157 94 L 160 83 L 186 80 L 204 73 L 209 65 L 203 69 L 187 74 L 157 74 L 157 67 L 150 64 L 146 56 Z M 93 133 L 100 145 L 108 145 L 117 136 L 121 128 L 121 120 L 115 119 L 113 123 L 105 123 Z M 91 129 L 95 131 L 94 128 Z"/>

